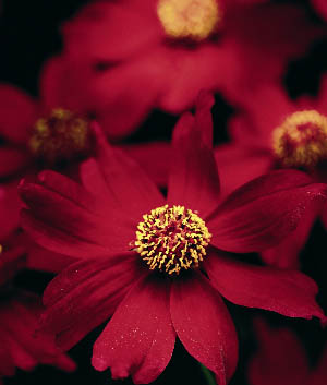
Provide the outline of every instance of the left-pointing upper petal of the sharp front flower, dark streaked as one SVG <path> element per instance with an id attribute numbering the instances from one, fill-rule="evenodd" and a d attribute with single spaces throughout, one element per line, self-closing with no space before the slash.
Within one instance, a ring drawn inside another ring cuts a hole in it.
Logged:
<path id="1" fill-rule="evenodd" d="M 68 178 L 55 172 L 46 176 L 46 179 L 45 175 L 39 177 L 44 185 L 26 182 L 20 185 L 21 196 L 29 207 L 29 210 L 23 212 L 23 226 L 37 243 L 77 257 L 108 256 L 129 250 L 129 242 L 134 238 L 133 224 L 119 220 L 119 216 L 114 218 L 114 213 L 110 213 L 111 218 L 108 217 L 106 207 L 100 214 L 92 206 L 85 206 L 83 198 L 87 192 L 82 187 L 76 188 L 77 184 Z M 63 183 L 56 184 L 56 181 Z M 76 191 L 81 191 L 81 198 L 75 195 Z M 66 248 L 56 248 L 51 238 L 53 241 L 60 238 Z"/>

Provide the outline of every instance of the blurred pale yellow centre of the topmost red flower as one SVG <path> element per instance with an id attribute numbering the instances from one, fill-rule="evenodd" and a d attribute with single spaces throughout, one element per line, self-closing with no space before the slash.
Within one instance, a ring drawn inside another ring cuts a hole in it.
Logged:
<path id="1" fill-rule="evenodd" d="M 168 36 L 192 40 L 207 38 L 222 17 L 218 0 L 159 0 L 157 13 Z"/>

